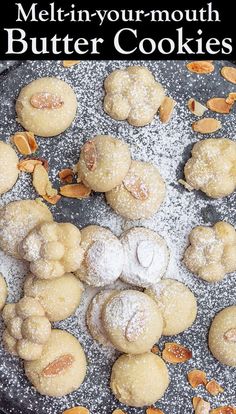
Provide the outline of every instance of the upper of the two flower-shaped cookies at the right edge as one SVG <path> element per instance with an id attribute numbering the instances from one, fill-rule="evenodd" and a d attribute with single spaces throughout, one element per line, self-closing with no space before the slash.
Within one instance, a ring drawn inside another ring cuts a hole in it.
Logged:
<path id="1" fill-rule="evenodd" d="M 184 174 L 190 187 L 209 197 L 231 194 L 236 189 L 236 142 L 227 138 L 197 142 Z"/>

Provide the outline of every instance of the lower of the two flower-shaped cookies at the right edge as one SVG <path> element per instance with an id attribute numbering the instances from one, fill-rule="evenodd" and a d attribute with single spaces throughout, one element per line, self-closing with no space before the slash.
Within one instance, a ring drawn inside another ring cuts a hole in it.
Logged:
<path id="1" fill-rule="evenodd" d="M 189 241 L 184 263 L 201 279 L 217 282 L 236 270 L 236 231 L 231 224 L 219 221 L 213 227 L 195 227 Z"/>

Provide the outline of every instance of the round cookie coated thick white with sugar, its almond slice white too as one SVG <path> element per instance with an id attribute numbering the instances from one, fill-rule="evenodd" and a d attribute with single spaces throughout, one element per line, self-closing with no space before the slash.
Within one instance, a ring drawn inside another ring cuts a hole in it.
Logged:
<path id="1" fill-rule="evenodd" d="M 121 235 L 120 241 L 124 248 L 121 279 L 140 287 L 159 282 L 169 262 L 165 240 L 152 230 L 133 227 Z"/>

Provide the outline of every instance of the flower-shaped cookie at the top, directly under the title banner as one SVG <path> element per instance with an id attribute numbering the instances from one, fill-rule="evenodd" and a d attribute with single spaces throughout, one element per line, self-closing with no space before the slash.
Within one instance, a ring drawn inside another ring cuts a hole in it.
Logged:
<path id="1" fill-rule="evenodd" d="M 104 110 L 118 121 L 144 126 L 156 115 L 165 92 L 152 73 L 143 66 L 130 66 L 112 72 L 104 83 Z"/>

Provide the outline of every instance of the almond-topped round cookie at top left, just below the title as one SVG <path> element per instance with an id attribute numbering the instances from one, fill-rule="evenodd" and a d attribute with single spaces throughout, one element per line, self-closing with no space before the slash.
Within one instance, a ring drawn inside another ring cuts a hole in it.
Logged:
<path id="1" fill-rule="evenodd" d="M 58 78 L 39 78 L 26 85 L 16 101 L 17 120 L 28 131 L 52 137 L 65 131 L 75 118 L 73 89 Z"/>

